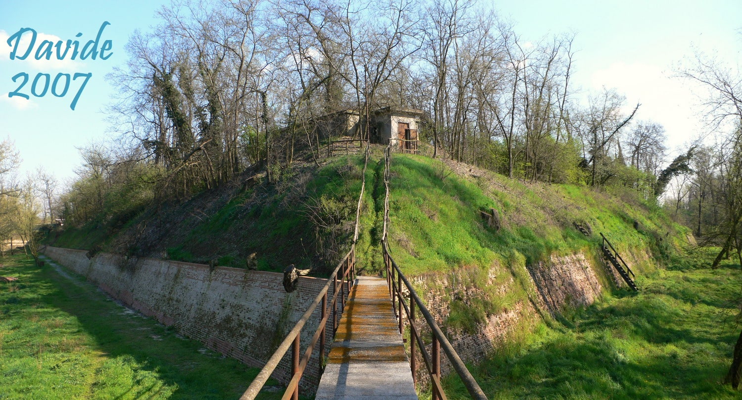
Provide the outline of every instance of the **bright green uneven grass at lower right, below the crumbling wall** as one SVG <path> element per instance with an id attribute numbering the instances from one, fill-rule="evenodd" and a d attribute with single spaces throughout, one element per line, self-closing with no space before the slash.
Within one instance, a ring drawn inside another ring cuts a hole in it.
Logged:
<path id="1" fill-rule="evenodd" d="M 740 266 L 710 269 L 709 255 L 640 278 L 618 292 L 540 325 L 475 369 L 490 399 L 740 399 L 720 384 L 739 335 L 729 301 Z M 449 378 L 454 396 L 467 399 Z"/>

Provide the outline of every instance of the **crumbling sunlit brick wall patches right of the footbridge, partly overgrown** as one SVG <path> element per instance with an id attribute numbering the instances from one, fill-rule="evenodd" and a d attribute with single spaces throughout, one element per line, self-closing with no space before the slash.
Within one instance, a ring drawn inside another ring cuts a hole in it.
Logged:
<path id="1" fill-rule="evenodd" d="M 502 343 L 506 338 L 513 335 L 517 329 L 528 329 L 537 318 L 539 310 L 543 312 L 559 312 L 565 304 L 571 306 L 582 306 L 592 304 L 600 295 L 602 287 L 597 281 L 591 263 L 582 253 L 564 257 L 552 257 L 549 263 L 540 262 L 528 266 L 531 283 L 536 289 L 536 297 L 530 301 L 520 301 L 510 304 L 499 312 L 488 315 L 484 324 L 480 324 L 476 332 L 447 332 L 449 341 L 456 353 L 464 362 L 479 363 L 487 358 L 487 355 Z M 456 292 L 460 298 L 466 300 L 477 295 L 482 295 L 481 289 L 474 286 L 466 286 L 467 270 L 459 270 L 448 275 L 423 275 L 412 278 L 413 284 L 417 286 L 416 291 L 421 294 L 427 309 L 441 324 L 450 314 L 450 295 L 447 292 Z M 497 282 L 496 274 L 508 274 L 496 269 L 490 269 L 487 275 L 487 283 Z M 499 277 L 498 294 L 504 294 L 515 284 L 512 276 Z M 534 306 L 535 304 L 535 306 Z M 419 314 L 418 314 L 419 315 Z M 418 326 L 423 326 L 427 332 L 422 318 L 416 318 Z M 427 346 L 430 352 L 430 345 Z M 427 373 L 424 372 L 424 364 L 418 355 L 418 379 L 427 381 Z M 451 366 L 445 355 L 441 354 L 441 372 L 451 372 Z"/>

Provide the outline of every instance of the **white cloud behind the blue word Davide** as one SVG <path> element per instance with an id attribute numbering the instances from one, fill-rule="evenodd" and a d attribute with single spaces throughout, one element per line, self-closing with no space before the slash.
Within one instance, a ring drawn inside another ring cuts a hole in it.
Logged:
<path id="1" fill-rule="evenodd" d="M 13 32 L 15 33 L 15 32 Z M 51 56 L 51 59 L 36 59 L 34 58 L 34 55 L 36 54 L 36 49 L 41 44 L 41 42 L 48 40 L 52 42 L 53 45 L 56 45 L 56 42 L 59 42 L 62 40 L 59 36 L 54 35 L 48 35 L 47 33 L 36 33 L 36 42 L 34 44 L 33 50 L 31 50 L 31 53 L 28 55 L 28 57 L 24 60 L 19 59 L 10 59 L 10 51 L 13 50 L 13 47 L 7 45 L 7 39 L 10 38 L 10 33 L 7 33 L 5 30 L 0 30 L 0 62 L 12 62 L 14 64 L 17 64 L 19 66 L 25 66 L 27 68 L 32 68 L 35 71 L 79 71 L 82 67 L 82 62 L 72 60 L 70 57 L 72 56 L 72 49 L 68 51 L 67 56 L 65 56 L 65 59 L 57 59 L 56 58 L 56 47 L 53 47 L 53 53 Z M 82 38 L 80 38 L 82 39 Z M 30 33 L 24 33 L 23 36 L 21 36 L 21 42 L 19 43 L 19 52 L 24 52 L 27 46 L 29 45 L 31 40 Z M 87 41 L 85 41 L 87 42 Z M 82 50 L 82 46 L 85 45 L 85 42 L 82 42 L 80 44 L 80 50 Z M 62 40 L 62 45 L 66 45 L 67 40 Z"/>

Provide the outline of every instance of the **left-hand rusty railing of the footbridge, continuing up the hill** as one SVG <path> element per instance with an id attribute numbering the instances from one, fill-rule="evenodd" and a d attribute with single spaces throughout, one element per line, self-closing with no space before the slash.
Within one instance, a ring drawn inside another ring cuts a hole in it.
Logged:
<path id="1" fill-rule="evenodd" d="M 255 379 L 252 381 L 250 386 L 245 390 L 240 400 L 254 400 L 255 397 L 260 393 L 260 390 L 265 386 L 266 381 L 270 378 L 276 367 L 280 363 L 281 359 L 289 348 L 292 350 L 292 369 L 291 369 L 291 380 L 286 386 L 286 391 L 283 393 L 282 400 L 299 399 L 299 382 L 303 376 L 304 370 L 306 370 L 309 364 L 309 359 L 312 357 L 312 352 L 319 342 L 319 358 L 318 368 L 322 369 L 322 359 L 325 354 L 326 345 L 326 324 L 329 321 L 330 313 L 328 312 L 328 301 L 329 309 L 332 310 L 332 332 L 334 333 L 338 329 L 338 297 L 340 301 L 340 312 L 342 314 L 345 308 L 345 300 L 348 293 L 355 281 L 355 243 L 358 241 L 359 235 L 359 221 L 361 219 L 361 205 L 363 203 L 364 191 L 366 188 L 366 170 L 369 160 L 369 146 L 366 146 L 366 154 L 364 160 L 364 170 L 361 180 L 361 193 L 358 195 L 358 206 L 355 210 L 355 230 L 353 233 L 353 243 L 350 246 L 350 251 L 347 252 L 345 257 L 338 263 L 338 266 L 330 274 L 327 283 L 320 290 L 317 297 L 306 309 L 306 312 L 297 321 L 294 327 L 286 335 L 278 349 L 271 355 L 271 358 L 266 362 L 260 373 L 257 374 Z M 339 277 L 339 281 L 338 281 Z M 328 298 L 328 292 L 332 286 L 332 297 Z M 318 324 L 315 334 L 312 336 L 312 340 L 309 342 L 309 346 L 306 347 L 304 355 L 300 358 L 301 352 L 301 331 L 306 323 L 312 318 L 312 314 L 315 312 L 318 306 L 321 304 L 321 320 Z"/>

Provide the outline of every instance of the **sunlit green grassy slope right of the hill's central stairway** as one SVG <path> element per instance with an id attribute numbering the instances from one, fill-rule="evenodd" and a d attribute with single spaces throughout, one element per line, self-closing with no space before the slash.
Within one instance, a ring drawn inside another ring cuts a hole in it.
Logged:
<path id="1" fill-rule="evenodd" d="M 452 168 L 463 169 L 465 175 Z M 592 252 L 600 244 L 599 232 L 624 258 L 633 255 L 639 272 L 651 272 L 654 260 L 669 260 L 688 232 L 659 206 L 629 191 L 616 196 L 579 186 L 526 185 L 468 168 L 394 155 L 390 245 L 397 263 L 410 274 L 489 267 L 513 258 L 531 264 L 551 254 Z M 502 220 L 499 231 L 488 228 L 479 213 L 492 208 Z M 585 237 L 573 223 L 588 223 L 593 235 Z"/>

